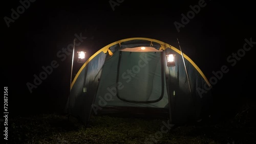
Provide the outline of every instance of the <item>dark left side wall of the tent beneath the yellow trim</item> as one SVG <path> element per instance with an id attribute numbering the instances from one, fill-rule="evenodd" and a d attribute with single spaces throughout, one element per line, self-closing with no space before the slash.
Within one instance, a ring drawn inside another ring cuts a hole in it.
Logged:
<path id="1" fill-rule="evenodd" d="M 74 96 L 70 99 L 70 113 L 85 123 L 90 119 L 105 57 L 103 52 L 94 57 L 82 69 L 71 90 L 71 95 Z"/>

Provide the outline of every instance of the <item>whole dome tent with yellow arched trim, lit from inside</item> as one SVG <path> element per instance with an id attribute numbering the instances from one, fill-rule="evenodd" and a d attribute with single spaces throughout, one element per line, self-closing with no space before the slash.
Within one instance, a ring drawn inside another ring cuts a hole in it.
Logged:
<path id="1" fill-rule="evenodd" d="M 71 84 L 68 113 L 86 125 L 92 114 L 100 113 L 168 115 L 173 124 L 186 123 L 209 108 L 211 93 L 204 88 L 210 86 L 176 47 L 151 38 L 127 38 L 84 62 Z"/>

